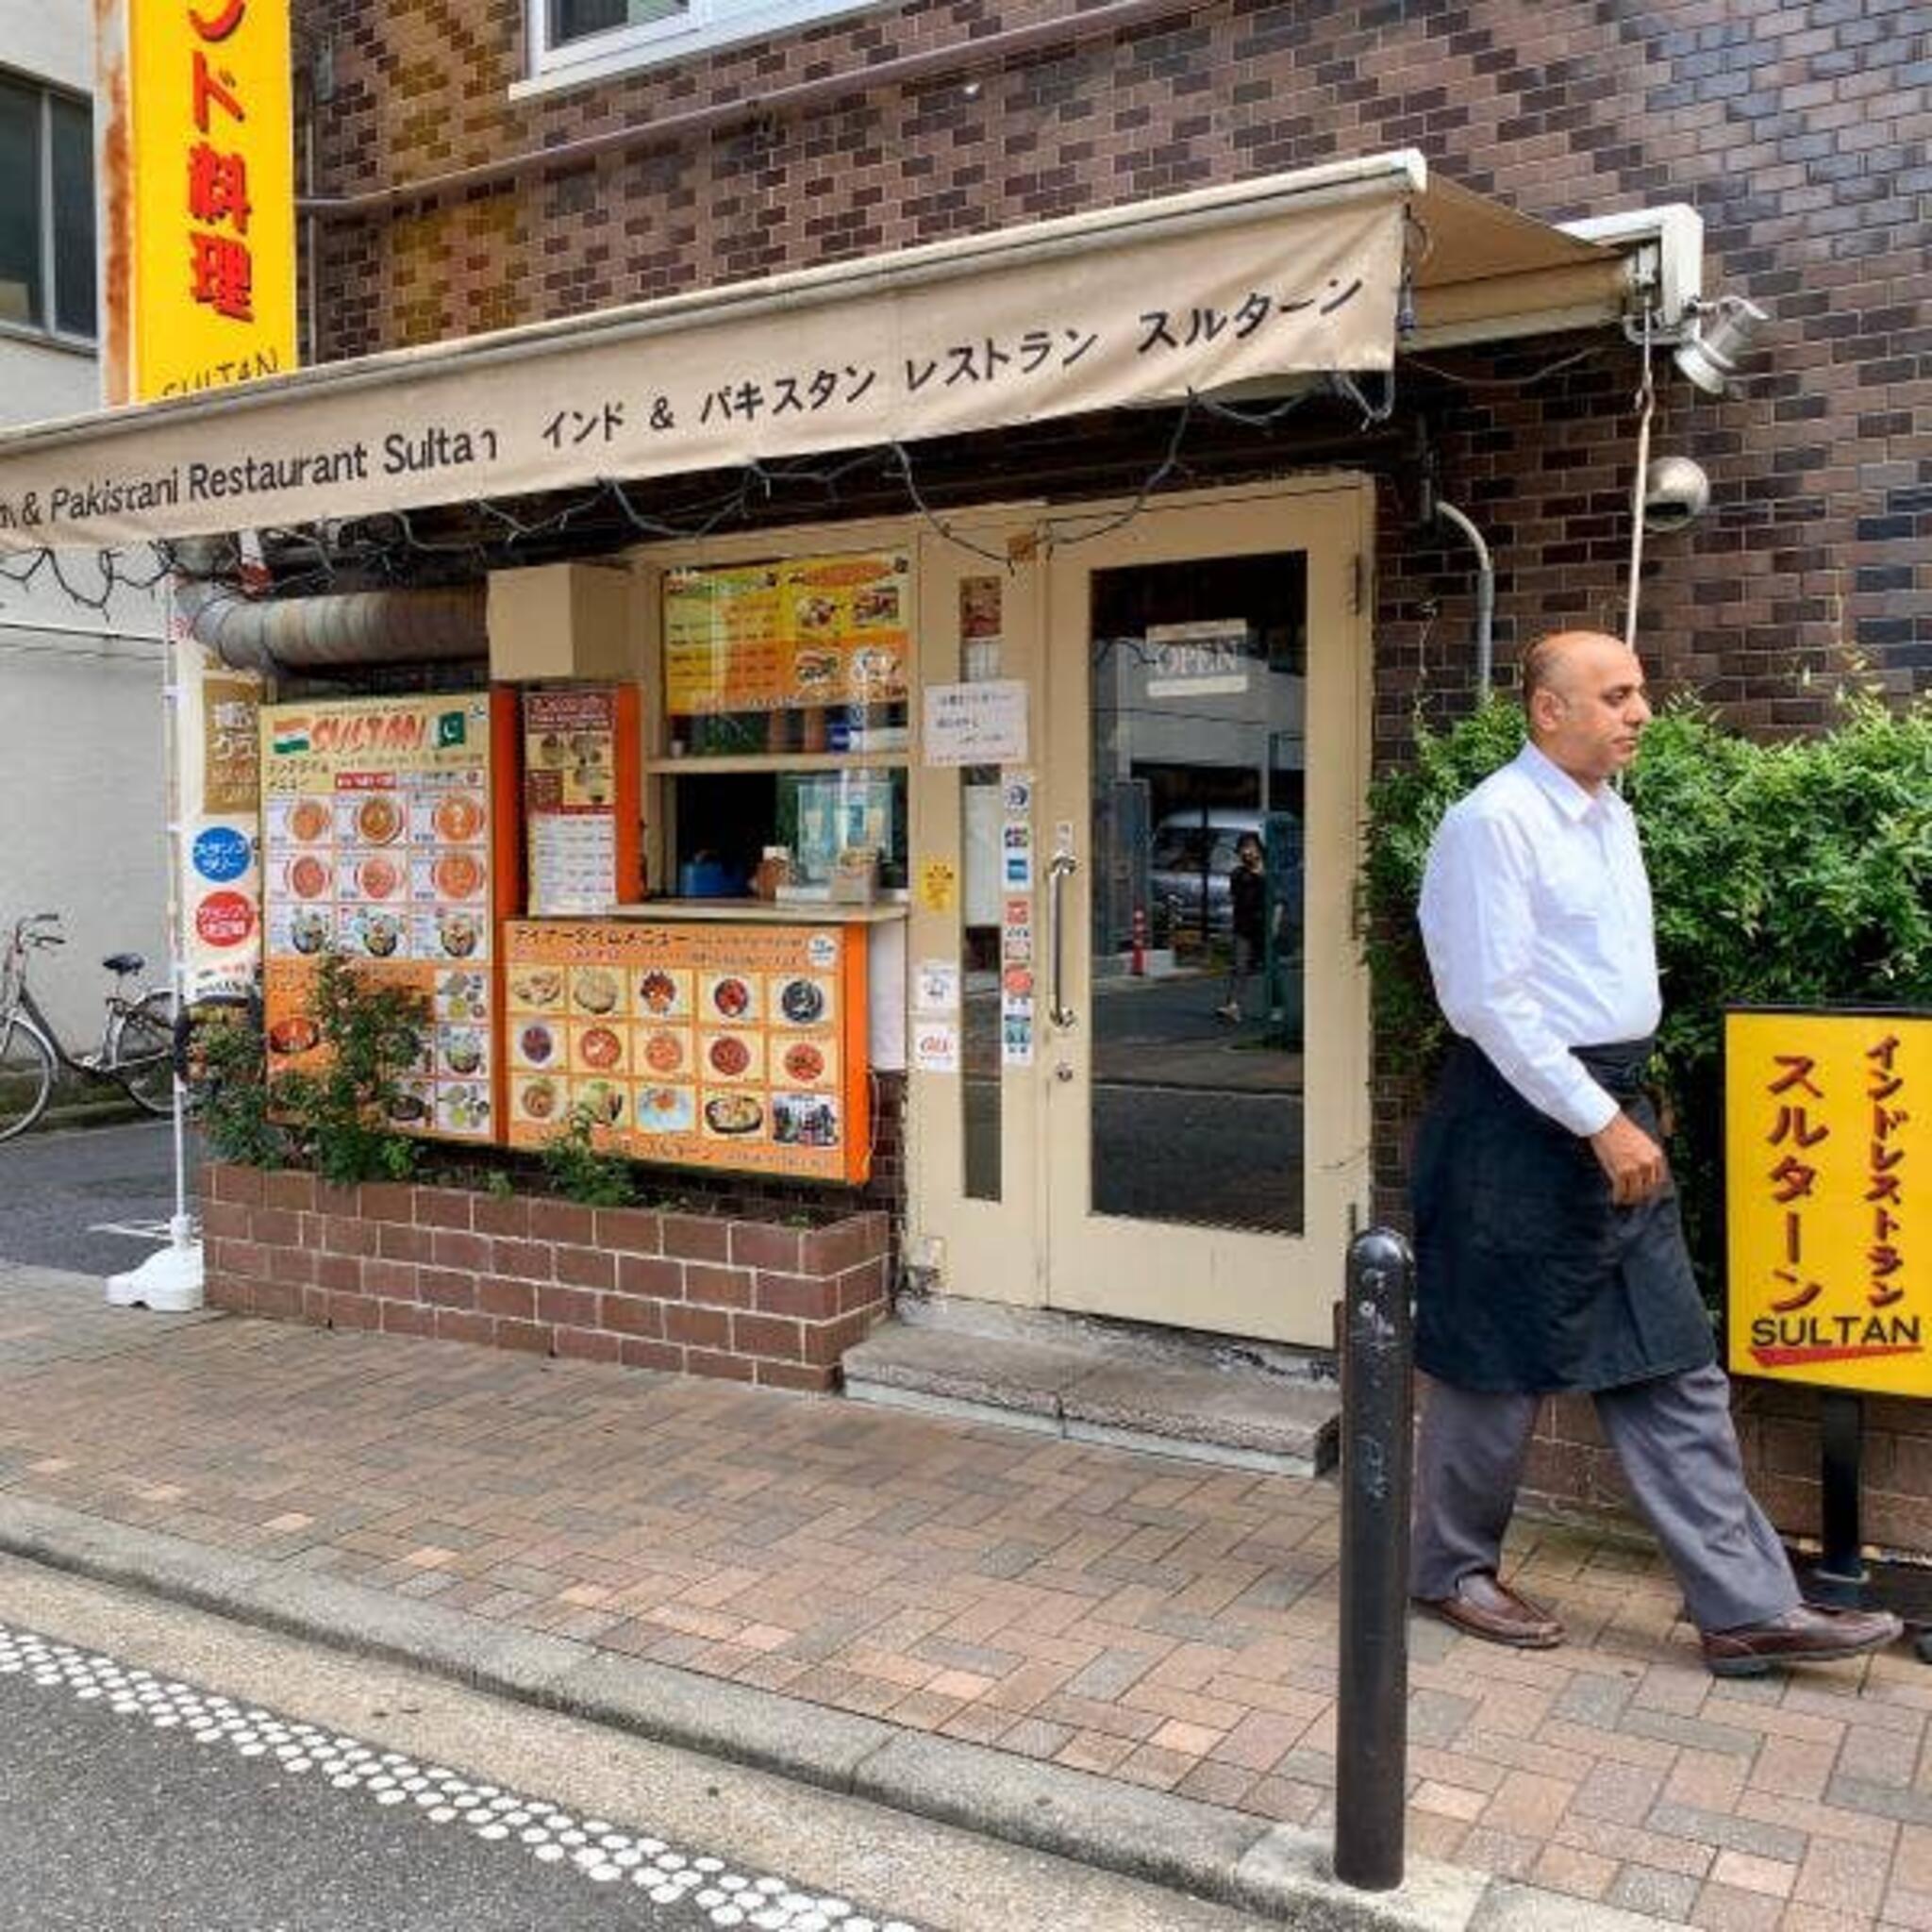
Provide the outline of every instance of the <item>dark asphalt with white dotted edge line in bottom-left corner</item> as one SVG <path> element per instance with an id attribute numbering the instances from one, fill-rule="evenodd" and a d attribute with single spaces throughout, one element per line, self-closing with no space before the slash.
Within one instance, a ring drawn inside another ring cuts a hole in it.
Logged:
<path id="1" fill-rule="evenodd" d="M 761 1924 L 765 1899 L 794 1895 L 14 1629 L 0 1629 L 0 1737 L 8 1932 L 709 1932 Z M 734 1895 L 757 1903 L 715 1917 Z"/>

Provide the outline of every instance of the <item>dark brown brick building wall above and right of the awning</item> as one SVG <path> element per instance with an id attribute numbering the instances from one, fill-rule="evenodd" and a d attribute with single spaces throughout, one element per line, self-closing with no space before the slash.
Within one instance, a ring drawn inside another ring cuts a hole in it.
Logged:
<path id="1" fill-rule="evenodd" d="M 883 6 L 769 43 L 524 102 L 518 0 L 307 0 L 336 91 L 321 193 L 748 100 L 1061 17 L 1049 4 Z M 1774 307 L 1735 400 L 1667 377 L 1658 446 L 1718 512 L 1656 545 L 1644 634 L 1667 682 L 1760 726 L 1847 649 L 1932 682 L 1932 328 L 1926 41 L 1905 0 L 1602 6 L 1208 4 L 1070 50 L 881 85 L 367 222 L 327 224 L 321 355 L 582 313 L 1341 155 L 1420 145 L 1443 172 L 1561 220 L 1690 201 L 1710 288 Z M 978 93 L 968 97 L 968 83 Z M 1499 638 L 1613 618 L 1634 357 L 1459 388 L 1410 369 L 1445 491 L 1492 533 Z M 1551 355 L 1443 357 L 1486 383 Z M 1293 468 L 1293 448 L 1271 452 Z M 1250 452 L 1252 466 L 1252 452 Z M 1418 694 L 1466 676 L 1466 556 L 1391 495 L 1378 703 L 1397 750 Z M 1420 616 L 1434 599 L 1434 620 Z"/>

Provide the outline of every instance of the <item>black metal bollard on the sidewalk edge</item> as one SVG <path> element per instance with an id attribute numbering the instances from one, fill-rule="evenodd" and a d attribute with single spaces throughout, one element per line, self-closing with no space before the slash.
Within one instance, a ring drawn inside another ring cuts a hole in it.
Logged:
<path id="1" fill-rule="evenodd" d="M 1403 1882 L 1408 1766 L 1408 1492 L 1416 1260 L 1372 1227 L 1349 1244 L 1341 1366 L 1341 1658 L 1335 1876 Z"/>

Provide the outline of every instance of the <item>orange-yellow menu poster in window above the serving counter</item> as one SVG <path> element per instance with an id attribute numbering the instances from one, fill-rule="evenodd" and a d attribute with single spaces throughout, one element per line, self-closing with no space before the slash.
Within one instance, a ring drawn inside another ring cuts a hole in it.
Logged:
<path id="1" fill-rule="evenodd" d="M 906 696 L 904 556 L 790 556 L 665 578 L 665 711 L 788 711 Z"/>

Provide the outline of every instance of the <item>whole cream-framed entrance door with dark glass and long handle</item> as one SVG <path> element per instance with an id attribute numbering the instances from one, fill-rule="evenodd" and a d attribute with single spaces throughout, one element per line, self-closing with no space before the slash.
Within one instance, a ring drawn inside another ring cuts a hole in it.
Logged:
<path id="1" fill-rule="evenodd" d="M 1366 1184 L 1354 491 L 1148 512 L 1047 578 L 1047 1300 L 1329 1339 Z"/>

